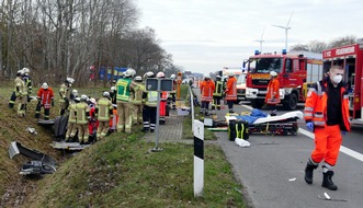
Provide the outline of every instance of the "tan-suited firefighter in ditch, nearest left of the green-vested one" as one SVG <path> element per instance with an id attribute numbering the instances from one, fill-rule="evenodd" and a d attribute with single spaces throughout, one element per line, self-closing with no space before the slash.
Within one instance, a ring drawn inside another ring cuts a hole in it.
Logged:
<path id="1" fill-rule="evenodd" d="M 103 92 L 98 104 L 95 105 L 95 116 L 99 122 L 97 130 L 97 140 L 101 141 L 109 132 L 110 118 L 113 115 L 113 106 L 110 101 L 110 92 Z"/>

